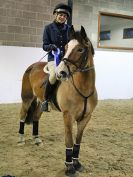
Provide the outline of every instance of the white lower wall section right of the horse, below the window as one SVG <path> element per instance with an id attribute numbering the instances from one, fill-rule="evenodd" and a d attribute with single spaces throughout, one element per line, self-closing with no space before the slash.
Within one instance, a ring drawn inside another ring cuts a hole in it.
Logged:
<path id="1" fill-rule="evenodd" d="M 133 52 L 96 51 L 99 99 L 133 98 Z"/>

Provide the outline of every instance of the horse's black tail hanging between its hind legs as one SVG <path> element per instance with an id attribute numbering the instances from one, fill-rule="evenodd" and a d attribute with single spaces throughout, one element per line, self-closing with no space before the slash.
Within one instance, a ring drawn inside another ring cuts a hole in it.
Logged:
<path id="1" fill-rule="evenodd" d="M 29 107 L 28 112 L 27 112 L 27 116 L 25 119 L 26 124 L 33 123 L 33 116 L 34 116 L 34 111 L 35 111 L 36 107 L 37 107 L 37 100 L 34 99 Z"/>

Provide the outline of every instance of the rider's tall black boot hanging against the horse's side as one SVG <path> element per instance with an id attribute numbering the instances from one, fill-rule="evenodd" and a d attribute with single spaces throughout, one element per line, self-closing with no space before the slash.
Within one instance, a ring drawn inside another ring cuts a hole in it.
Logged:
<path id="1" fill-rule="evenodd" d="M 52 92 L 52 88 L 53 88 L 53 85 L 50 84 L 49 80 L 47 81 L 46 83 L 46 89 L 45 89 L 45 94 L 44 94 L 44 97 L 45 97 L 45 101 L 42 102 L 42 106 L 41 106 L 41 111 L 45 111 L 45 112 L 48 112 L 48 101 L 49 101 L 49 98 L 50 98 L 50 94 Z"/>

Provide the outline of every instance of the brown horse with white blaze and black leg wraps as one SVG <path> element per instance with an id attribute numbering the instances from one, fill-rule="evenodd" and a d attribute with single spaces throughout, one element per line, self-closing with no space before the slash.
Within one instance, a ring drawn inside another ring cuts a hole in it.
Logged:
<path id="1" fill-rule="evenodd" d="M 70 176 L 82 169 L 79 161 L 80 144 L 84 129 L 97 102 L 95 87 L 94 48 L 83 26 L 79 31 L 70 28 L 70 40 L 65 46 L 65 55 L 56 67 L 58 80 L 54 90 L 52 109 L 62 112 L 65 129 L 65 174 Z M 44 70 L 46 72 L 44 72 Z M 24 125 L 33 119 L 33 136 L 36 144 L 42 143 L 38 135 L 41 103 L 45 100 L 45 82 L 48 79 L 47 62 L 29 66 L 22 79 L 22 106 L 20 111 L 20 142 L 24 142 Z M 56 103 L 56 104 L 55 104 Z M 73 123 L 77 134 L 73 139 Z"/>

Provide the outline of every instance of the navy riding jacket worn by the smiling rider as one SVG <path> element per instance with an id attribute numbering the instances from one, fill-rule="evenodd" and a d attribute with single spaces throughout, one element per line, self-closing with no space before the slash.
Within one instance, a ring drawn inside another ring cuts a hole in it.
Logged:
<path id="1" fill-rule="evenodd" d="M 46 52 L 50 51 L 50 45 L 55 44 L 60 49 L 60 60 L 65 54 L 65 45 L 68 43 L 68 32 L 70 26 L 67 24 L 58 25 L 53 22 L 45 26 L 43 33 L 43 50 Z M 53 61 L 54 56 L 52 51 L 48 54 L 48 61 Z"/>

